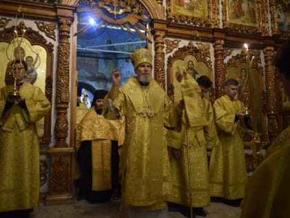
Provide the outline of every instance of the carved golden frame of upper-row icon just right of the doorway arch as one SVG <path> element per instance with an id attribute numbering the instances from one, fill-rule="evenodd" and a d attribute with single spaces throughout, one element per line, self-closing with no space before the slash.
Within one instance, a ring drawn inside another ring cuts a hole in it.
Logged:
<path id="1" fill-rule="evenodd" d="M 206 3 L 206 6 L 204 6 L 204 10 L 201 10 L 201 12 L 203 12 L 204 15 L 203 16 L 200 15 L 199 17 L 194 16 L 194 14 L 196 15 L 197 13 L 190 11 L 191 9 L 182 8 L 186 5 L 184 1 L 183 1 L 184 6 L 176 6 L 174 2 L 176 1 L 166 0 L 166 17 L 168 20 L 182 22 L 184 24 L 191 24 L 194 26 L 203 26 L 211 28 L 219 26 L 218 24 L 219 2 L 217 0 L 194 1 L 195 3 L 197 3 L 197 6 L 199 7 L 200 5 L 202 6 L 202 3 Z M 179 8 L 179 10 L 181 10 L 182 13 L 176 12 L 175 7 Z"/>

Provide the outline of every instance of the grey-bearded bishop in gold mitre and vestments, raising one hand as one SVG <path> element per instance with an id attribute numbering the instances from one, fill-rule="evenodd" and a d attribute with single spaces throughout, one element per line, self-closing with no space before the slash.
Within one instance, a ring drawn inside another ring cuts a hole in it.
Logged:
<path id="1" fill-rule="evenodd" d="M 109 96 L 115 117 L 126 119 L 121 153 L 122 212 L 129 218 L 168 217 L 166 201 L 172 186 L 164 126 L 176 127 L 178 106 L 151 78 L 152 55 L 146 48 L 134 51 L 131 62 L 136 76 L 119 89 L 121 77 L 115 69 Z"/>

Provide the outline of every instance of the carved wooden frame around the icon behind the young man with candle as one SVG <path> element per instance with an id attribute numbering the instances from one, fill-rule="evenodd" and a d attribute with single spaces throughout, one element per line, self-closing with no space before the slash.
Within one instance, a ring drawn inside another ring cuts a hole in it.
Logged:
<path id="1" fill-rule="evenodd" d="M 249 51 L 249 55 L 251 57 L 254 56 L 253 62 L 251 62 L 251 67 L 250 67 L 250 72 L 252 75 L 249 76 L 249 90 L 252 91 L 255 95 L 257 95 L 257 98 L 253 99 L 251 96 L 249 97 L 250 99 L 250 105 L 255 103 L 255 106 L 260 106 L 260 108 L 255 110 L 256 114 L 261 114 L 261 120 L 258 120 L 260 123 L 260 129 L 262 129 L 262 132 L 260 132 L 261 139 L 262 140 L 267 140 L 267 124 L 266 124 L 266 112 L 267 112 L 267 104 L 266 104 L 266 89 L 265 89 L 265 84 L 264 84 L 264 69 L 261 64 L 261 51 Z M 246 68 L 247 69 L 247 62 L 246 62 L 246 51 L 243 50 L 240 54 L 232 56 L 228 62 L 226 62 L 226 67 L 225 67 L 225 73 L 226 73 L 226 78 L 235 78 L 235 72 L 238 74 L 237 71 L 239 69 Z M 231 74 L 229 74 L 231 71 Z M 253 71 L 256 71 L 259 73 L 259 75 L 254 75 Z M 258 87 L 259 90 L 253 91 L 253 88 L 258 81 L 257 78 L 260 78 L 260 87 Z M 260 102 L 257 102 L 257 100 L 260 99 Z M 254 111 L 252 111 L 254 113 Z M 257 116 L 253 115 L 253 118 Z M 254 120 L 255 121 L 255 120 Z"/>

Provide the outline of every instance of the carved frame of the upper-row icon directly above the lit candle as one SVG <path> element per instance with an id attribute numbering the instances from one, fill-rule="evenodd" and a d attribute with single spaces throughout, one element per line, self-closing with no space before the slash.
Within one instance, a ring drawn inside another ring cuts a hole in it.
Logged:
<path id="1" fill-rule="evenodd" d="M 235 0 L 239 1 L 239 0 Z M 245 25 L 238 24 L 238 22 L 231 21 L 229 17 L 229 0 L 222 0 L 222 24 L 223 28 L 228 28 L 229 30 L 234 30 L 240 33 L 251 33 L 257 34 L 262 33 L 262 35 L 269 35 L 269 25 L 268 25 L 268 10 L 265 1 L 253 0 L 255 1 L 255 25 Z M 249 10 L 249 8 L 248 8 Z M 250 10 L 249 10 L 250 11 Z M 243 20 L 240 21 L 241 23 Z"/>

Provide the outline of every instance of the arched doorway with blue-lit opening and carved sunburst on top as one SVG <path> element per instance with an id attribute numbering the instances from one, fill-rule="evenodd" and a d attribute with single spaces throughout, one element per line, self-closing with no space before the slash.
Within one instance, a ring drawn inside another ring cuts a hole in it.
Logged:
<path id="1" fill-rule="evenodd" d="M 155 1 L 118 1 L 115 5 L 99 2 L 79 1 L 77 5 L 78 23 L 72 43 L 75 66 L 72 64 L 71 145 L 75 145 L 75 105 L 79 86 L 109 90 L 110 72 L 117 67 L 125 82 L 134 72 L 131 53 L 137 48 L 153 48 L 150 21 L 164 16 L 162 6 Z"/>

